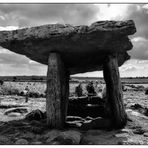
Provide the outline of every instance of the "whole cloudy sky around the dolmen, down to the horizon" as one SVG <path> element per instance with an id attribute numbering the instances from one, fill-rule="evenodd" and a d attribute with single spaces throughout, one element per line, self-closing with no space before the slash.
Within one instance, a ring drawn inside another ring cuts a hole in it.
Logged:
<path id="1" fill-rule="evenodd" d="M 148 76 L 148 4 L 0 4 L 0 30 L 50 23 L 90 25 L 101 20 L 133 19 L 137 33 L 122 77 Z M 0 75 L 46 75 L 47 66 L 0 47 Z M 79 74 L 82 76 L 82 74 Z M 102 76 L 102 72 L 83 76 Z"/>

